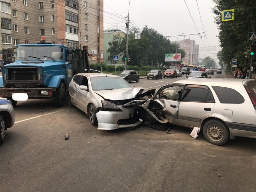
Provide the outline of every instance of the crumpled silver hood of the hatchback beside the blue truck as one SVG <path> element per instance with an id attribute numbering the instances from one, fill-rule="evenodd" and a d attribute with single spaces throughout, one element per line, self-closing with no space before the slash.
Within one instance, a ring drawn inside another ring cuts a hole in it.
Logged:
<path id="1" fill-rule="evenodd" d="M 101 90 L 95 91 L 96 94 L 102 96 L 104 99 L 108 100 L 126 100 L 134 98 L 143 88 L 123 88 L 123 89 L 113 89 L 113 90 Z"/>

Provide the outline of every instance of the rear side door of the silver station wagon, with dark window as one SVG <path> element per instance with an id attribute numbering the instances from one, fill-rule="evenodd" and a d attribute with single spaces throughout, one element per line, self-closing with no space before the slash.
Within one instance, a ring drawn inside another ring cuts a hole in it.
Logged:
<path id="1" fill-rule="evenodd" d="M 204 117 L 213 113 L 215 101 L 207 86 L 187 85 L 178 110 L 181 125 L 200 127 Z"/>

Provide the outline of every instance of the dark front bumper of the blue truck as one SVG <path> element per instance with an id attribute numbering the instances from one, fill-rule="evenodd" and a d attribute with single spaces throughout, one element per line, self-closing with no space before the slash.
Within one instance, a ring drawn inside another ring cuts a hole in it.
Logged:
<path id="1" fill-rule="evenodd" d="M 42 95 L 42 91 L 48 91 L 48 95 Z M 29 98 L 50 98 L 53 97 L 52 88 L 0 88 L 1 97 L 12 97 L 14 93 L 26 93 Z"/>

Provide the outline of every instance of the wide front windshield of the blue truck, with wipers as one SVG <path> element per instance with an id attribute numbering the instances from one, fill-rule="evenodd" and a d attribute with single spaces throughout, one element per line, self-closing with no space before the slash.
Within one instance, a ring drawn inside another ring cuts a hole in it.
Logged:
<path id="1" fill-rule="evenodd" d="M 24 46 L 17 48 L 16 60 L 34 59 L 33 57 L 37 57 L 42 60 L 53 59 L 61 61 L 63 59 L 63 49 L 62 47 L 55 46 Z"/>

